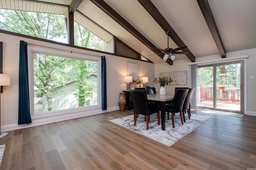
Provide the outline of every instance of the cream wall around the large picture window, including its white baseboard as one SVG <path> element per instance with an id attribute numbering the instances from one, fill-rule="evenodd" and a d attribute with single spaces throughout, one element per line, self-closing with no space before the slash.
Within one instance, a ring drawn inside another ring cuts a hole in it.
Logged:
<path id="1" fill-rule="evenodd" d="M 3 73 L 11 75 L 11 85 L 4 86 L 1 94 L 1 127 L 2 131 L 9 131 L 24 127 L 30 127 L 39 124 L 51 123 L 54 121 L 61 121 L 65 119 L 72 119 L 75 117 L 82 117 L 86 115 L 98 114 L 106 111 L 101 109 L 90 110 L 84 112 L 76 112 L 66 114 L 64 116 L 53 116 L 47 118 L 32 119 L 32 123 L 28 125 L 18 125 L 18 68 L 19 68 L 19 49 L 20 40 L 24 40 L 29 44 L 42 45 L 63 50 L 70 50 L 79 53 L 86 53 L 92 55 L 106 56 L 106 71 L 107 71 L 107 110 L 117 110 L 119 92 L 126 90 L 126 83 L 124 83 L 124 76 L 127 75 L 127 63 L 139 64 L 139 76 L 148 76 L 149 82 L 147 86 L 154 86 L 152 83 L 154 79 L 154 64 L 133 59 L 126 59 L 113 55 L 106 55 L 103 53 L 96 53 L 33 39 L 23 37 L 16 37 L 0 33 L 0 41 L 3 42 Z M 150 82 L 151 81 L 151 82 Z"/>

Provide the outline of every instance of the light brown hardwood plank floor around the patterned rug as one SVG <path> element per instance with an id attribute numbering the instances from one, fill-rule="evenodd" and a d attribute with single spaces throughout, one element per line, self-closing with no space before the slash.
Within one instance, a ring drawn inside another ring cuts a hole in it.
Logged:
<path id="1" fill-rule="evenodd" d="M 192 113 L 206 115 L 199 111 Z M 0 169 L 256 170 L 254 116 L 211 114 L 168 147 L 110 121 L 131 114 L 111 111 L 9 131 L 0 139 L 0 145 L 6 144 Z"/>

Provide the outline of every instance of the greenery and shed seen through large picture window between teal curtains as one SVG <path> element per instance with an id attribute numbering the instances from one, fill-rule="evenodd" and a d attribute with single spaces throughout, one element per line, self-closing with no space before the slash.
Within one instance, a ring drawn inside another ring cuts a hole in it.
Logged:
<path id="1" fill-rule="evenodd" d="M 44 54 L 34 58 L 34 113 L 97 105 L 97 62 Z"/>

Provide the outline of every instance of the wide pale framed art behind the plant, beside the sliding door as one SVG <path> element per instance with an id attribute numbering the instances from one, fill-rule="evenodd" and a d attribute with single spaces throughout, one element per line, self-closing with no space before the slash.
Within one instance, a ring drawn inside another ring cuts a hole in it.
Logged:
<path id="1" fill-rule="evenodd" d="M 160 72 L 160 77 L 170 77 L 173 82 L 168 85 L 187 85 L 187 71 Z"/>

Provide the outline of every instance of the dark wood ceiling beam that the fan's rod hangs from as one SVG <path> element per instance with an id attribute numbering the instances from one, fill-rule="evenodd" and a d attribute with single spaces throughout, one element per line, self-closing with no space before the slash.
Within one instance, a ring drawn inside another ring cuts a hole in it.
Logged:
<path id="1" fill-rule="evenodd" d="M 178 45 L 178 47 L 185 46 L 184 42 L 180 39 L 178 34 L 172 29 L 171 25 L 165 20 L 162 14 L 158 11 L 158 9 L 154 6 L 154 4 L 150 0 L 138 0 L 140 4 L 148 11 L 148 13 L 154 18 L 154 20 L 164 29 L 164 31 L 170 31 L 171 34 L 169 37 Z M 191 53 L 188 48 L 182 49 L 183 52 L 188 52 L 186 56 L 190 59 L 190 61 L 195 62 L 196 58 Z"/>

